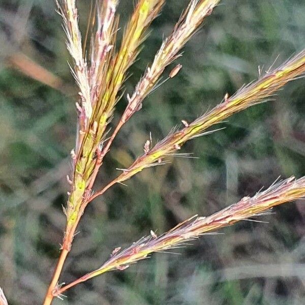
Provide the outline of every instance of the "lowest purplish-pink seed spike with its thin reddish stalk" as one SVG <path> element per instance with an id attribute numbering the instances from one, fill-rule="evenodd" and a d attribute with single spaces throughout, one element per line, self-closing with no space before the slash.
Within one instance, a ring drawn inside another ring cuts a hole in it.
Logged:
<path id="1" fill-rule="evenodd" d="M 253 197 L 243 197 L 239 202 L 211 216 L 198 217 L 195 215 L 159 237 L 153 231 L 150 231 L 149 236 L 142 237 L 129 248 L 123 251 L 120 251 L 120 248 L 114 249 L 110 258 L 99 269 L 87 273 L 85 276 L 66 286 L 58 288 L 55 295 L 60 295 L 69 288 L 110 270 L 124 270 L 131 264 L 146 259 L 151 253 L 163 252 L 184 246 L 187 241 L 233 225 L 238 221 L 258 221 L 251 220 L 250 218 L 268 214 L 273 206 L 297 200 L 304 196 L 305 177 L 299 179 L 290 177 L 283 181 L 275 182 L 267 190 L 258 192 Z"/>

